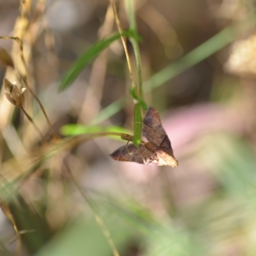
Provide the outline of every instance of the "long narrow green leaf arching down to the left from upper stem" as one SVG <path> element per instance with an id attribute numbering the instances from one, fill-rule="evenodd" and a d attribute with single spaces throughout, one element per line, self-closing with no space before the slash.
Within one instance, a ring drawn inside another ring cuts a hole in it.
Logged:
<path id="1" fill-rule="evenodd" d="M 122 36 L 131 36 L 131 37 L 138 37 L 138 35 L 135 35 L 134 31 L 124 31 L 122 33 Z M 92 45 L 84 54 L 78 58 L 68 69 L 66 74 L 61 79 L 61 83 L 59 86 L 59 91 L 62 92 L 63 90 L 67 89 L 68 86 L 70 86 L 74 80 L 81 74 L 81 72 L 84 70 L 86 65 L 92 61 L 94 58 L 97 57 L 97 55 L 106 49 L 106 47 L 109 46 L 112 42 L 119 39 L 121 35 L 118 33 L 116 35 L 113 35 L 109 38 L 105 38 L 103 40 L 100 40 L 99 42 L 96 42 Z"/>

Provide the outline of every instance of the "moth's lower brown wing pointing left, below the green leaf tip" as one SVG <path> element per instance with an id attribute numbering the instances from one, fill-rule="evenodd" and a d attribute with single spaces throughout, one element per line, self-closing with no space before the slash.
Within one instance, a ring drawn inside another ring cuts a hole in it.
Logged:
<path id="1" fill-rule="evenodd" d="M 116 161 L 127 161 L 139 164 L 147 164 L 147 159 L 150 159 L 152 153 L 141 144 L 139 147 L 133 144 L 124 145 L 117 148 L 110 156 Z"/>

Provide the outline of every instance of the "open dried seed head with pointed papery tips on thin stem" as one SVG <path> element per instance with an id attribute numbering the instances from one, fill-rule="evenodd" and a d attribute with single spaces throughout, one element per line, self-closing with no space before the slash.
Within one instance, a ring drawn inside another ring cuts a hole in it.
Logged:
<path id="1" fill-rule="evenodd" d="M 14 83 L 11 83 L 8 79 L 4 78 L 4 88 L 6 98 L 16 107 L 22 108 L 22 92 L 18 86 Z"/>

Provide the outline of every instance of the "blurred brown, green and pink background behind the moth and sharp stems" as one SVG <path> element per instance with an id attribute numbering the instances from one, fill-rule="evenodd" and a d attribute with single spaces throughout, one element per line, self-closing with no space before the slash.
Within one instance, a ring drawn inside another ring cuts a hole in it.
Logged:
<path id="1" fill-rule="evenodd" d="M 126 141 L 113 138 L 45 146 L 2 86 L 0 255 L 256 255 L 255 1 L 134 6 L 145 102 L 159 111 L 179 166 L 114 161 L 109 154 Z M 124 1 L 116 7 L 129 28 Z M 0 66 L 1 81 L 24 87 L 17 74 L 27 77 L 59 140 L 67 124 L 116 125 L 132 134 L 121 40 L 58 92 L 72 63 L 117 31 L 109 1 L 2 0 L 0 20 L 0 36 L 22 38 L 27 65 L 17 42 L 1 38 L 14 63 Z M 23 100 L 46 136 L 49 126 L 28 90 Z"/>

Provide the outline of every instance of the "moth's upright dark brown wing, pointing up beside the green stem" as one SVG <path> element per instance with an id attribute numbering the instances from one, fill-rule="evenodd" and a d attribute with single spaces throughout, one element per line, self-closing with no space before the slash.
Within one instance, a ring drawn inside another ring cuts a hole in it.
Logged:
<path id="1" fill-rule="evenodd" d="M 148 141 L 158 147 L 171 148 L 171 142 L 163 129 L 159 113 L 155 108 L 149 106 L 145 117 L 143 118 L 142 134 Z"/>

